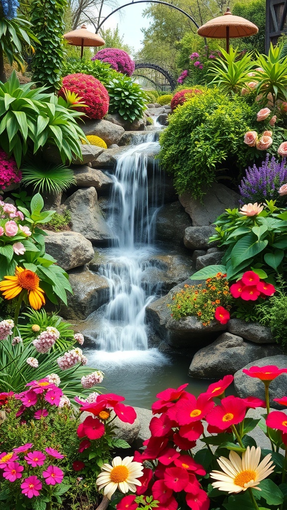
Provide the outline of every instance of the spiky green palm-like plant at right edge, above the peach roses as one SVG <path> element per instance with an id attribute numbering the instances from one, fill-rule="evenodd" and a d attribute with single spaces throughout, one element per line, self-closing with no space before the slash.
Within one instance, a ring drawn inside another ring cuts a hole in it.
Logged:
<path id="1" fill-rule="evenodd" d="M 258 81 L 256 91 L 264 99 L 272 94 L 273 103 L 277 99 L 287 99 L 287 56 L 283 52 L 283 43 L 270 44 L 268 55 L 257 55 L 256 64 L 261 70 L 255 70 L 254 79 Z"/>

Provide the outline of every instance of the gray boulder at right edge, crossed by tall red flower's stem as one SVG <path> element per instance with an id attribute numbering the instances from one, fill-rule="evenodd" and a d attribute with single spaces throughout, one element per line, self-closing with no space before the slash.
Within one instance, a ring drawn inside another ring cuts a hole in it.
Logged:
<path id="1" fill-rule="evenodd" d="M 252 366 L 264 367 L 266 365 L 275 365 L 278 368 L 287 368 L 287 356 L 285 354 L 268 356 L 268 358 L 254 360 L 252 363 L 248 363 L 248 365 L 243 368 L 249 369 Z M 252 396 L 265 400 L 264 383 L 260 379 L 250 377 L 249 375 L 243 373 L 242 370 L 238 370 L 238 372 L 234 374 L 234 386 L 236 392 L 242 398 Z M 271 407 L 282 410 L 282 405 L 274 402 L 273 399 L 287 396 L 287 374 L 281 374 L 276 377 L 276 379 L 271 381 L 269 386 L 269 394 Z"/>

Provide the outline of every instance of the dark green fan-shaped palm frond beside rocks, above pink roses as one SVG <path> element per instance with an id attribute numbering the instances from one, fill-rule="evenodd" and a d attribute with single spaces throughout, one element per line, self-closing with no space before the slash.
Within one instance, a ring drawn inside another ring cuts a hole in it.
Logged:
<path id="1" fill-rule="evenodd" d="M 65 165 L 53 163 L 26 163 L 21 167 L 23 186 L 33 186 L 38 193 L 58 194 L 76 184 L 73 170 Z"/>

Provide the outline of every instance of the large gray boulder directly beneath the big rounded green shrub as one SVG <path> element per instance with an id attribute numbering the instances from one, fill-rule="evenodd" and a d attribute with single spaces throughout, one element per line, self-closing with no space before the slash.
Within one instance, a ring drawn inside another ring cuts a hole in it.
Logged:
<path id="1" fill-rule="evenodd" d="M 192 197 L 186 191 L 179 196 L 181 205 L 193 220 L 193 225 L 211 225 L 225 209 L 234 209 L 239 206 L 240 195 L 223 184 L 213 183 L 202 201 Z"/>

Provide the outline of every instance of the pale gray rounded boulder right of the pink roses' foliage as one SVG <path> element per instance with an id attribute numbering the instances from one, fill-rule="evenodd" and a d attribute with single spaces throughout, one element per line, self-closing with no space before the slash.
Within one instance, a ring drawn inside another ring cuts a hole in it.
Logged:
<path id="1" fill-rule="evenodd" d="M 57 260 L 65 271 L 83 266 L 94 256 L 92 243 L 78 232 L 45 231 L 45 251 Z"/>

